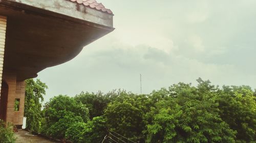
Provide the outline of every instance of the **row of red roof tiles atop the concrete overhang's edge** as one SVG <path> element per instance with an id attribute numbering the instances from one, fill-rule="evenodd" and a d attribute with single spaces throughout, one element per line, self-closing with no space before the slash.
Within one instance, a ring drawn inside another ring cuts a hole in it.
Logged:
<path id="1" fill-rule="evenodd" d="M 113 12 L 110 9 L 106 9 L 101 3 L 97 3 L 96 0 L 69 0 L 69 1 L 76 2 L 78 4 L 90 7 L 92 9 L 96 9 L 98 11 L 113 14 Z"/>

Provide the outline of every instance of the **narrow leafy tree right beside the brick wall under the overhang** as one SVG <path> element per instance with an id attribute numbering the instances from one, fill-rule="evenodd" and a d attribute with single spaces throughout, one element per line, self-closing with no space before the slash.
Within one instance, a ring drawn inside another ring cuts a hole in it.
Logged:
<path id="1" fill-rule="evenodd" d="M 44 101 L 47 85 L 39 79 L 26 80 L 25 110 L 27 117 L 26 128 L 33 132 L 39 132 L 41 121 L 41 102 Z"/>

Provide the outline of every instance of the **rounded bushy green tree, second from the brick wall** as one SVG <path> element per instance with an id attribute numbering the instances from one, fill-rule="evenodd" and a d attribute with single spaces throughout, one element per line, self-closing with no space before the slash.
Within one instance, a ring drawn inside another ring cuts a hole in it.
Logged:
<path id="1" fill-rule="evenodd" d="M 59 95 L 45 105 L 42 133 L 57 139 L 65 138 L 66 131 L 74 123 L 89 121 L 88 108 L 74 98 Z"/>

